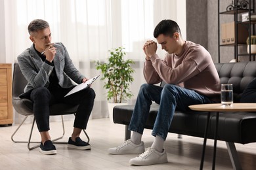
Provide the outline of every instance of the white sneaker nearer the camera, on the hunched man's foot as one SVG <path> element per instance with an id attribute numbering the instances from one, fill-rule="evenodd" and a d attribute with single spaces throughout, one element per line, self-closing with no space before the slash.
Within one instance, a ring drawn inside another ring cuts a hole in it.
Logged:
<path id="1" fill-rule="evenodd" d="M 153 165 L 166 162 L 168 160 L 165 150 L 163 149 L 163 152 L 158 152 L 154 148 L 147 148 L 144 153 L 129 161 L 131 165 Z"/>

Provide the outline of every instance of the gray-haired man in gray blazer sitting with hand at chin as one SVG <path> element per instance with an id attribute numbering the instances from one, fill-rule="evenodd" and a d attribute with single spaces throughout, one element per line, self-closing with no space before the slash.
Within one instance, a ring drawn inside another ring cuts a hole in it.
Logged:
<path id="1" fill-rule="evenodd" d="M 45 20 L 33 20 L 28 25 L 32 46 L 18 56 L 22 74 L 28 80 L 24 93 L 33 101 L 35 122 L 41 135 L 40 152 L 56 154 L 56 148 L 49 135 L 49 106 L 56 102 L 79 105 L 75 114 L 74 130 L 68 140 L 68 148 L 91 149 L 91 145 L 79 137 L 86 129 L 95 100 L 92 88 L 86 88 L 64 97 L 72 88 L 88 79 L 74 67 L 65 46 L 51 43 L 51 30 Z"/>

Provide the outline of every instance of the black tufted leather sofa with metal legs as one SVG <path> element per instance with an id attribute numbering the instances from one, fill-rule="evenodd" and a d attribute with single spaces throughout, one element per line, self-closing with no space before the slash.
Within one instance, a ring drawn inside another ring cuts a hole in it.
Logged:
<path id="1" fill-rule="evenodd" d="M 215 63 L 215 67 L 219 73 L 221 83 L 233 84 L 234 103 L 238 103 L 247 84 L 256 77 L 256 62 Z M 134 105 L 116 106 L 113 109 L 114 123 L 125 125 L 125 140 L 131 137 L 128 126 L 133 109 Z M 145 128 L 153 128 L 157 112 L 158 105 L 153 103 Z M 181 135 L 203 137 L 206 120 L 207 112 L 192 110 L 189 112 L 175 112 L 169 132 L 177 133 L 180 137 Z M 207 133 L 208 139 L 214 139 L 215 120 L 215 113 L 212 113 Z M 217 139 L 226 142 L 233 168 L 242 169 L 234 143 L 256 142 L 256 112 L 221 112 L 218 128 Z"/>

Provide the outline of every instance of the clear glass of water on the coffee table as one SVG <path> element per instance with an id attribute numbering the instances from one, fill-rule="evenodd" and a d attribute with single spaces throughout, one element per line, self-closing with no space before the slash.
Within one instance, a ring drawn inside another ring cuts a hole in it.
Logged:
<path id="1" fill-rule="evenodd" d="M 233 85 L 221 84 L 221 104 L 231 106 L 233 104 Z"/>

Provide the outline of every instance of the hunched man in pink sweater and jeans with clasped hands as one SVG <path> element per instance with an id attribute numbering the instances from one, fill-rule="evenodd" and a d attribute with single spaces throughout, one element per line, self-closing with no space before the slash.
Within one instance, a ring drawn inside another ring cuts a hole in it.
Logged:
<path id="1" fill-rule="evenodd" d="M 129 161 L 131 165 L 167 162 L 163 143 L 175 110 L 186 111 L 189 105 L 214 103 L 220 98 L 219 75 L 203 46 L 184 41 L 179 25 L 173 20 L 162 20 L 154 30 L 154 37 L 167 54 L 161 59 L 156 54 L 156 42 L 150 40 L 144 44 L 143 73 L 147 84 L 140 87 L 129 125 L 133 135 L 121 146 L 108 150 L 110 154 L 140 154 Z M 166 82 L 165 86 L 154 85 L 161 81 Z M 160 107 L 152 131 L 154 143 L 145 151 L 141 137 L 152 101 Z"/>

